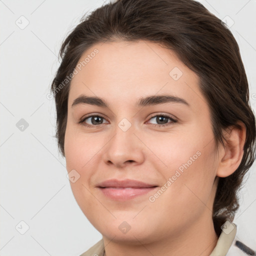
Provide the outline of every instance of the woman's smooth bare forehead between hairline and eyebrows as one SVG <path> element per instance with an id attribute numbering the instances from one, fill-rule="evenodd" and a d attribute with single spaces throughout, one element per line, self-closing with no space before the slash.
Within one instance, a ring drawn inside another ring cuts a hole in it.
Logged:
<path id="1" fill-rule="evenodd" d="M 96 53 L 95 53 L 96 52 Z M 80 94 L 136 102 L 145 95 L 172 94 L 198 104 L 199 78 L 175 52 L 148 41 L 113 41 L 88 48 L 76 65 L 68 104 Z"/>

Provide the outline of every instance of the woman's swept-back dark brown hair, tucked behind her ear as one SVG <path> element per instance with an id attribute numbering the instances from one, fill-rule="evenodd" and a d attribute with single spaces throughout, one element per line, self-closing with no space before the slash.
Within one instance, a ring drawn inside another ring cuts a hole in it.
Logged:
<path id="1" fill-rule="evenodd" d="M 193 0 L 117 0 L 85 14 L 61 45 L 61 64 L 51 84 L 56 103 L 56 138 L 63 156 L 70 80 L 64 85 L 63 81 L 86 49 L 117 39 L 165 45 L 199 76 L 217 146 L 218 142 L 224 145 L 224 128 L 237 126 L 238 120 L 245 124 L 240 165 L 231 175 L 219 178 L 214 198 L 212 218 L 219 235 L 221 224 L 233 220 L 239 207 L 238 189 L 255 159 L 255 117 L 237 42 L 220 19 Z"/>

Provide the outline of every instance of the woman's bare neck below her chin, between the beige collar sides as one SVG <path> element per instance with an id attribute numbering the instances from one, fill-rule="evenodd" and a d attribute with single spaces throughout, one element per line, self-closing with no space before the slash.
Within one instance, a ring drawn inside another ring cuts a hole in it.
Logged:
<path id="1" fill-rule="evenodd" d="M 136 236 L 136 235 L 134 235 Z M 133 236 L 133 238 L 134 238 Z M 210 219 L 202 219 L 184 227 L 179 233 L 164 235 L 163 239 L 143 244 L 142 240 L 134 244 L 134 241 L 108 239 L 103 236 L 106 256 L 151 256 L 151 255 L 200 255 L 209 256 L 216 246 L 218 236 Z M 107 245 L 107 246 L 106 246 Z"/>

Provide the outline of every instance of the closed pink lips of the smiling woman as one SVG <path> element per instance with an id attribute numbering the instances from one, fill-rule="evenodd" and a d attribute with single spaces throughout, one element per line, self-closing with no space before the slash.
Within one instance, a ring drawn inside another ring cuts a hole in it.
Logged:
<path id="1" fill-rule="evenodd" d="M 145 183 L 134 179 L 109 179 L 98 184 L 104 196 L 118 201 L 129 200 L 144 195 L 155 189 L 157 185 Z"/>

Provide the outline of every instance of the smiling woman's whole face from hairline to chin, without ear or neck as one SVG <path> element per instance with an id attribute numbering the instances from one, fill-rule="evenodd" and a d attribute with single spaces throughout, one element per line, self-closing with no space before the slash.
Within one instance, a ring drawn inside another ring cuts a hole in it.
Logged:
<path id="1" fill-rule="evenodd" d="M 142 40 L 95 44 L 74 74 L 66 168 L 92 225 L 138 243 L 210 223 L 218 160 L 198 76 L 173 51 Z M 109 179 L 117 183 L 99 187 Z M 149 187 L 119 182 L 126 179 Z"/>

